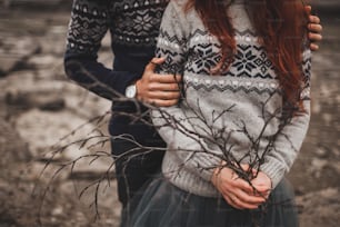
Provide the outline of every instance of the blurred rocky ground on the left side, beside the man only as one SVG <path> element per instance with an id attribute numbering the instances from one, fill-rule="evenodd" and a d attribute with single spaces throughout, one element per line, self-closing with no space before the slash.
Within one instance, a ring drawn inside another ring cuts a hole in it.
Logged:
<path id="1" fill-rule="evenodd" d="M 106 134 L 107 118 L 89 121 L 110 109 L 108 101 L 66 79 L 62 56 L 71 1 L 60 2 L 11 1 L 7 8 L 0 3 L 1 227 L 118 226 L 120 205 L 107 155 L 82 158 L 72 171 L 66 168 L 57 174 L 61 162 L 91 154 L 88 146 L 68 147 L 41 174 L 51 151 L 98 130 Z M 102 51 L 101 61 L 109 65 L 108 40 Z M 92 150 L 109 148 L 104 144 Z M 90 207 L 94 182 L 106 174 L 108 180 L 98 190 L 100 219 L 94 223 L 96 209 Z"/>

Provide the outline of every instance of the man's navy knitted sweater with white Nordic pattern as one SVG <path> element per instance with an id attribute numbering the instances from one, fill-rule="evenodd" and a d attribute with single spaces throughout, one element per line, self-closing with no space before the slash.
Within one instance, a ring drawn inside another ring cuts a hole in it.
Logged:
<path id="1" fill-rule="evenodd" d="M 154 56 L 168 0 L 73 0 L 64 55 L 67 75 L 104 98 L 112 97 L 110 90 L 123 95 Z M 97 61 L 107 32 L 111 34 L 113 70 Z"/>

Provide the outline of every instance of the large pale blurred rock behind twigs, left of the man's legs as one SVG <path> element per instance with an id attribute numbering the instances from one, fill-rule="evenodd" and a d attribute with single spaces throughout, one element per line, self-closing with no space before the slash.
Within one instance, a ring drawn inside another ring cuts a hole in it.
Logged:
<path id="1" fill-rule="evenodd" d="M 72 112 L 32 109 L 18 118 L 16 129 L 29 142 L 37 159 L 49 161 L 52 154 L 57 154 L 53 161 L 69 166 L 74 161 L 72 178 L 98 179 L 106 172 L 113 172 L 109 138 L 92 138 L 96 137 L 96 125 Z M 94 146 L 101 140 L 107 140 L 103 147 L 101 144 Z M 100 151 L 98 158 L 97 151 Z"/>

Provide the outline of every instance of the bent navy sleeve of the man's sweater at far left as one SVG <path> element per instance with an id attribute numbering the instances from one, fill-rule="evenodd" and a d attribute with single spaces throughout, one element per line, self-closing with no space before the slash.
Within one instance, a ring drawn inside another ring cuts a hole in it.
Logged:
<path id="1" fill-rule="evenodd" d="M 108 31 L 109 1 L 73 0 L 68 29 L 64 70 L 67 76 L 90 91 L 112 98 L 124 93 L 138 75 L 113 71 L 98 62 L 98 50 Z"/>

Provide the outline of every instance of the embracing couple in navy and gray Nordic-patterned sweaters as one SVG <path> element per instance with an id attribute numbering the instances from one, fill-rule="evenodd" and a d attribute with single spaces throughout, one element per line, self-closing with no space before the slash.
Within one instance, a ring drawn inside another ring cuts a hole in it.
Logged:
<path id="1" fill-rule="evenodd" d="M 167 1 L 98 2 L 73 3 L 68 75 L 107 98 L 110 93 L 104 88 L 88 86 L 93 78 L 86 77 L 83 69 L 118 92 L 168 106 L 152 111 L 152 121 L 168 145 L 163 177 L 146 187 L 122 226 L 253 226 L 254 221 L 297 226 L 293 196 L 283 176 L 300 149 L 310 114 L 310 51 L 302 3 L 173 0 L 167 7 Z M 153 55 L 166 7 L 157 46 L 162 58 L 152 60 L 160 65 L 157 77 L 152 65 L 142 69 Z M 114 71 L 97 62 L 108 29 Z M 70 63 L 74 60 L 81 69 Z M 173 73 L 183 76 L 183 100 L 177 106 L 181 77 L 173 78 Z M 230 111 L 224 112 L 226 108 Z M 112 109 L 133 111 L 133 106 L 113 103 Z M 151 128 L 128 125 L 127 117 L 113 115 L 110 134 L 132 134 L 146 146 L 162 146 L 151 138 Z M 208 130 L 220 132 L 228 142 Z M 132 146 L 114 140 L 112 152 L 119 155 Z M 250 165 L 256 159 L 253 150 L 262 157 L 258 165 Z M 128 166 L 120 159 L 119 197 L 124 205 L 157 172 L 161 158 L 161 152 L 154 152 Z M 236 162 L 251 177 L 240 177 Z M 264 201 L 269 201 L 266 213 L 256 209 Z"/>

